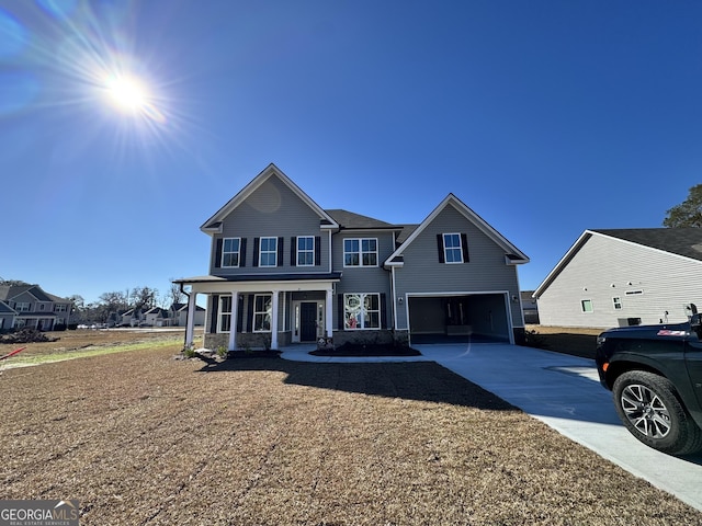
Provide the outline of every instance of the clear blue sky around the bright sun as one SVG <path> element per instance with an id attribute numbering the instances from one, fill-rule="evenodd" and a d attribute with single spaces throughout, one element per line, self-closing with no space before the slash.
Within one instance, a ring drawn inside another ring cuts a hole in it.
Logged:
<path id="1" fill-rule="evenodd" d="M 452 192 L 533 289 L 585 229 L 660 227 L 702 181 L 701 25 L 698 1 L 0 0 L 0 276 L 166 293 L 274 162 L 388 222 Z"/>

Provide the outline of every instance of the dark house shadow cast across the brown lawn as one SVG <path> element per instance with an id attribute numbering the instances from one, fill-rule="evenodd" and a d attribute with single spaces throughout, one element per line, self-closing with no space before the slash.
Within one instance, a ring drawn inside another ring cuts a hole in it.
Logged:
<path id="1" fill-rule="evenodd" d="M 433 362 L 320 364 L 279 358 L 227 359 L 200 373 L 280 371 L 285 382 L 369 396 L 465 405 L 489 411 L 519 411 L 489 391 Z"/>

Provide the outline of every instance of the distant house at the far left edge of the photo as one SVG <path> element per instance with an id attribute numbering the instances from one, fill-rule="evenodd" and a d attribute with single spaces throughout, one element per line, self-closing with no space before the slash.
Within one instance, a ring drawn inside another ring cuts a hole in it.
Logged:
<path id="1" fill-rule="evenodd" d="M 70 300 L 45 293 L 38 285 L 0 285 L 0 301 L 5 306 L 0 313 L 2 323 L 11 323 L 7 329 L 52 331 L 68 324 L 72 310 Z"/>

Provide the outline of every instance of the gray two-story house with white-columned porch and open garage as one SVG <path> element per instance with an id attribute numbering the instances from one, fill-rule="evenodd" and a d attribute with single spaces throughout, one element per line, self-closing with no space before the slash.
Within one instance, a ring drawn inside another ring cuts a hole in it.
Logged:
<path id="1" fill-rule="evenodd" d="M 529 259 L 453 194 L 419 225 L 324 209 L 274 164 L 207 219 L 207 347 L 304 342 L 514 342 Z M 192 345 L 194 320 L 186 323 Z"/>

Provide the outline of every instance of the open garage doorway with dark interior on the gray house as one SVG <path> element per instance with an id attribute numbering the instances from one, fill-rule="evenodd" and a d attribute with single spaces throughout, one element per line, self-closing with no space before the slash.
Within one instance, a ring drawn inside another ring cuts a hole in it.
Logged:
<path id="1" fill-rule="evenodd" d="M 410 295 L 408 301 L 412 344 L 510 341 L 503 294 Z"/>

